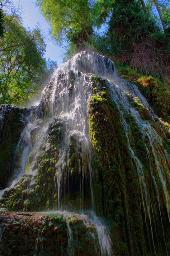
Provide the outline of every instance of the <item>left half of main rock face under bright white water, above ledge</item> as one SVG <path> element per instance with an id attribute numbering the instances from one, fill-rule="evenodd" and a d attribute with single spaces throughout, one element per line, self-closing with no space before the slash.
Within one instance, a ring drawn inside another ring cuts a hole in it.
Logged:
<path id="1" fill-rule="evenodd" d="M 91 75 L 73 71 L 59 74 L 47 85 L 40 105 L 32 108 L 25 173 L 5 192 L 6 209 L 50 210 L 63 206 L 83 210 L 91 205 L 90 93 Z"/>

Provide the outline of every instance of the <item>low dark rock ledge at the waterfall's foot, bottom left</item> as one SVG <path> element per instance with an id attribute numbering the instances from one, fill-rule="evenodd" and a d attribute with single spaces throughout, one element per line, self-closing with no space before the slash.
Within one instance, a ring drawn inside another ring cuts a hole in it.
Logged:
<path id="1" fill-rule="evenodd" d="M 0 238 L 4 256 L 99 255 L 94 225 L 78 214 L 4 213 L 0 215 Z"/>

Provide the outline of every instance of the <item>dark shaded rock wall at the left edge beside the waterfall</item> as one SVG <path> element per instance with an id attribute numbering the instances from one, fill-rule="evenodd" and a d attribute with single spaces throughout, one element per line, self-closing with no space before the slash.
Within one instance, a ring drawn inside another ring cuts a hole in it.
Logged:
<path id="1" fill-rule="evenodd" d="M 11 175 L 15 148 L 27 124 L 27 108 L 0 105 L 0 189 Z"/>

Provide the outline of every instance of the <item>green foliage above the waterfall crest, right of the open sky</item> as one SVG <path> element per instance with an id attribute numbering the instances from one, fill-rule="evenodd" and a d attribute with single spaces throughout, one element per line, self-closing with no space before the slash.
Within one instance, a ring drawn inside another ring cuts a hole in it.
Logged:
<path id="1" fill-rule="evenodd" d="M 150 1 L 152 2 L 152 1 Z M 67 41 L 67 60 L 77 51 L 95 50 L 117 56 L 143 75 L 154 75 L 168 83 L 170 49 L 167 1 L 160 2 L 166 33 L 151 8 L 135 0 L 37 0 L 37 5 L 52 27 L 57 43 Z M 108 22 L 109 21 L 109 22 Z M 96 28 L 108 22 L 97 33 Z"/>

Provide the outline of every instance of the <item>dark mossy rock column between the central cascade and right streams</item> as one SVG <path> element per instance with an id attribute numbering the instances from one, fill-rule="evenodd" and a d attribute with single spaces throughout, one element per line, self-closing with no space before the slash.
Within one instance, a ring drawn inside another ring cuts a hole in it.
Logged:
<path id="1" fill-rule="evenodd" d="M 114 241 L 114 249 L 117 251 L 116 255 L 147 255 L 147 253 L 150 255 L 150 250 L 154 251 L 154 245 L 151 245 L 152 248 L 150 248 L 148 243 L 147 222 L 150 220 L 148 219 L 146 222 L 148 216 L 144 213 L 146 206 L 143 205 L 143 193 L 147 193 L 148 204 L 155 209 L 155 212 L 151 214 L 151 225 L 155 228 L 157 225 L 161 229 L 161 219 L 160 216 L 157 217 L 155 225 L 154 218 L 157 216 L 156 212 L 159 212 L 159 208 L 155 197 L 152 172 L 149 171 L 150 162 L 147 157 L 146 141 L 143 141 L 143 134 L 134 117 L 125 111 L 124 118 L 131 131 L 131 135 L 128 135 L 129 143 L 134 154 L 142 163 L 144 172 L 142 175 L 146 179 L 146 191 L 144 192 L 141 187 L 141 177 L 128 148 L 127 137 L 123 127 L 124 121 L 117 106 L 110 99 L 107 81 L 95 77 L 94 88 L 96 85 L 98 90 L 94 90 L 95 94 L 89 104 L 90 139 L 93 146 L 92 168 L 95 209 L 98 214 L 106 216 L 113 224 L 112 239 Z M 105 93 L 101 93 L 103 91 Z M 133 100 L 132 105 L 134 108 L 138 108 L 142 115 L 143 106 L 138 102 L 137 98 Z M 150 151 L 150 155 L 152 154 Z M 154 168 L 154 157 L 152 159 Z M 156 169 L 154 175 L 160 184 Z M 159 190 L 160 195 L 164 194 L 161 185 Z M 160 202 L 165 205 L 164 199 L 160 199 Z M 165 226 L 164 230 L 168 233 Z M 152 237 L 150 231 L 149 236 Z M 156 236 L 159 235 L 154 232 L 154 237 Z M 166 253 L 165 243 L 161 237 L 162 231 L 159 243 L 157 243 L 156 239 L 154 241 L 157 255 L 162 255 L 162 250 Z M 120 241 L 122 241 L 121 245 Z M 164 249 L 162 249 L 162 246 Z"/>

